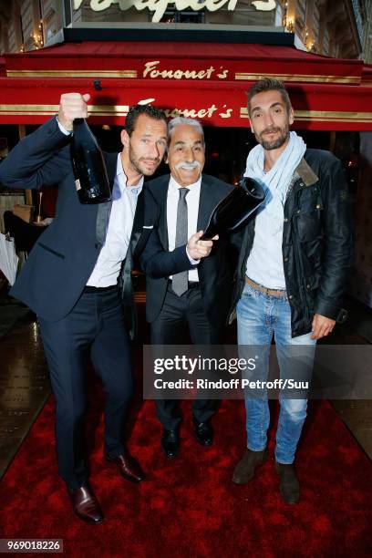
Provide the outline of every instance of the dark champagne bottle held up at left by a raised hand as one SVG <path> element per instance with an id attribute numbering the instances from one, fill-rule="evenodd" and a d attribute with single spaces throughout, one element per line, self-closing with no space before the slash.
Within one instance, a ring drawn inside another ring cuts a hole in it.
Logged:
<path id="1" fill-rule="evenodd" d="M 74 119 L 71 160 L 80 203 L 109 202 L 111 190 L 102 151 L 85 119 Z"/>

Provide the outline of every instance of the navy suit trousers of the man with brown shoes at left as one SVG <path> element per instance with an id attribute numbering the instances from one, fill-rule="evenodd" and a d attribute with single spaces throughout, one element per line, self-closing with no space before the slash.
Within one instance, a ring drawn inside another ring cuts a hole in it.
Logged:
<path id="1" fill-rule="evenodd" d="M 58 471 L 69 490 L 88 480 L 84 443 L 88 360 L 102 380 L 105 452 L 123 452 L 124 427 L 132 394 L 129 337 L 118 288 L 83 292 L 72 311 L 57 322 L 38 318 L 50 380 L 57 401 Z"/>

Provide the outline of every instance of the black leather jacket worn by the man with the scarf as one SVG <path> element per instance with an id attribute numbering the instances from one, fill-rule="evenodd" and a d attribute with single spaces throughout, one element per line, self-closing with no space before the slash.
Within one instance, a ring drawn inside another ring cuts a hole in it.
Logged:
<path id="1" fill-rule="evenodd" d="M 244 288 L 254 219 L 243 231 L 233 308 Z M 350 202 L 341 163 L 332 153 L 306 150 L 284 204 L 283 265 L 292 336 L 311 331 L 315 314 L 346 320 L 342 296 L 353 263 Z"/>

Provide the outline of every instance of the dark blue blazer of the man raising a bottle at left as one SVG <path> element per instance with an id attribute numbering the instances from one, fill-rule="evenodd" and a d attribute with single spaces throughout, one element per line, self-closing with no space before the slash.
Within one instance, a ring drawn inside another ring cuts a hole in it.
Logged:
<path id="1" fill-rule="evenodd" d="M 78 301 L 105 242 L 111 209 L 111 202 L 96 205 L 78 202 L 69 141 L 69 136 L 58 128 L 57 119 L 49 119 L 21 140 L 0 165 L 0 182 L 7 187 L 58 186 L 56 218 L 36 242 L 11 290 L 37 315 L 51 321 L 66 316 Z M 105 153 L 105 160 L 112 186 L 118 154 Z M 144 189 L 120 276 L 129 318 L 135 312 L 130 280 L 132 259 L 147 242 L 157 219 L 156 202 Z"/>

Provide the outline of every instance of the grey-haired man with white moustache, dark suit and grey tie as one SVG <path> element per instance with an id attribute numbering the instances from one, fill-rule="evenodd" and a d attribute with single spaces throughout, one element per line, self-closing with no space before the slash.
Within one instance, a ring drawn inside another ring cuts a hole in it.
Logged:
<path id="1" fill-rule="evenodd" d="M 161 251 L 177 253 L 188 236 L 205 229 L 213 208 L 233 187 L 202 174 L 205 145 L 197 120 L 172 119 L 168 131 L 171 175 L 147 185 L 160 207 L 160 220 L 140 256 L 147 274 L 146 312 L 151 343 L 179 344 L 187 324 L 192 343 L 216 345 L 221 343 L 233 289 L 236 252 L 230 238 L 221 237 L 214 243 L 211 255 L 200 263 L 194 262 L 189 272 L 167 277 Z M 168 457 L 175 457 L 180 447 L 180 408 L 176 401 L 166 399 L 157 400 L 156 406 L 164 427 L 162 448 Z M 213 401 L 196 398 L 192 410 L 196 438 L 203 446 L 211 445 Z"/>

